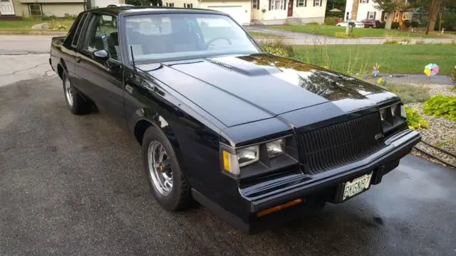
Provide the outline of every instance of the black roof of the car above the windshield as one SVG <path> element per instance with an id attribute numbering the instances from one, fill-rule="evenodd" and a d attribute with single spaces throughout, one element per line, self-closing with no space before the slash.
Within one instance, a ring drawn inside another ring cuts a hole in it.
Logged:
<path id="1" fill-rule="evenodd" d="M 182 14 L 182 13 L 195 13 L 195 14 L 224 14 L 220 11 L 209 9 L 189 9 L 189 8 L 176 8 L 165 6 L 113 6 L 98 9 L 91 9 L 88 12 L 100 12 L 104 14 L 111 14 L 118 16 L 119 14 L 139 15 L 139 14 Z"/>

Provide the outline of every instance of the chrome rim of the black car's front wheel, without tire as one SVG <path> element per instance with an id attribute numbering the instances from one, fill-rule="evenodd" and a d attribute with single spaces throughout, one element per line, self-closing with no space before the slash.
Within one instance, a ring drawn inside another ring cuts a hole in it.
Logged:
<path id="1" fill-rule="evenodd" d="M 171 159 L 160 142 L 152 141 L 147 149 L 150 177 L 155 189 L 163 196 L 172 191 Z"/>

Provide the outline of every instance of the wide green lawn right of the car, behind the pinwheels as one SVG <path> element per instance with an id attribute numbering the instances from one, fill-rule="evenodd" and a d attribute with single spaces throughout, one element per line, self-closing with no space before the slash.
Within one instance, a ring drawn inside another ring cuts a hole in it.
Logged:
<path id="1" fill-rule="evenodd" d="M 436 63 L 440 75 L 456 65 L 455 45 L 337 45 L 295 46 L 299 60 L 351 75 L 370 73 L 380 65 L 383 74 L 423 74 L 425 65 Z"/>

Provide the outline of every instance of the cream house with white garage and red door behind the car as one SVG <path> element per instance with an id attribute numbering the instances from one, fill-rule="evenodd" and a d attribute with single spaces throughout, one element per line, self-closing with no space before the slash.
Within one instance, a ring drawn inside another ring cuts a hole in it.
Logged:
<path id="1" fill-rule="evenodd" d="M 327 0 L 163 0 L 163 6 L 223 11 L 241 24 L 323 23 Z"/>

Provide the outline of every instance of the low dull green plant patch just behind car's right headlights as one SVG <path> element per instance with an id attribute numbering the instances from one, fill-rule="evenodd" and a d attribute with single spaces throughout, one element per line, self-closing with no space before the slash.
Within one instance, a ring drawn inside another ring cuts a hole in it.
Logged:
<path id="1" fill-rule="evenodd" d="M 429 99 L 427 90 L 419 85 L 383 84 L 381 87 L 398 95 L 402 102 L 425 102 Z"/>

